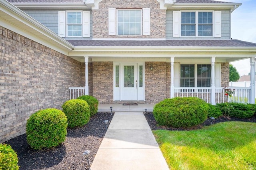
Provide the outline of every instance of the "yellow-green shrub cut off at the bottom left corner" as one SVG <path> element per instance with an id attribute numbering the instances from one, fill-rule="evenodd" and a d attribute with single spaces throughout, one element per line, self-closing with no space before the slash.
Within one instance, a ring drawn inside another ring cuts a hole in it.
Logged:
<path id="1" fill-rule="evenodd" d="M 18 170 L 18 157 L 8 144 L 0 144 L 0 170 Z"/>

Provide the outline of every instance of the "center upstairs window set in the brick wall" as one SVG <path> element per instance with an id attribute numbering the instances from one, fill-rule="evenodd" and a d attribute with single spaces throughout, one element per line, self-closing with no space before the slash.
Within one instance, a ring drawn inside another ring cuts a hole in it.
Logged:
<path id="1" fill-rule="evenodd" d="M 141 35 L 141 10 L 118 10 L 118 35 Z"/>

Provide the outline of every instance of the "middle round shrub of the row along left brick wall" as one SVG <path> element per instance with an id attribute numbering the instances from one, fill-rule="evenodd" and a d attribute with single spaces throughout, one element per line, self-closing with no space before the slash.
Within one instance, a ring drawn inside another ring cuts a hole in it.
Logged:
<path id="1" fill-rule="evenodd" d="M 71 99 L 62 105 L 63 112 L 68 118 L 68 127 L 82 127 L 90 119 L 90 107 L 86 101 Z"/>

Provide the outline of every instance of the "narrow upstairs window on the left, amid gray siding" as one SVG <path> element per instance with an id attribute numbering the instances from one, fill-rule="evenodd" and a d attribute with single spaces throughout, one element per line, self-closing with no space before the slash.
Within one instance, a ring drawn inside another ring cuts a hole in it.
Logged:
<path id="1" fill-rule="evenodd" d="M 68 37 L 82 36 L 82 12 L 67 12 Z"/>

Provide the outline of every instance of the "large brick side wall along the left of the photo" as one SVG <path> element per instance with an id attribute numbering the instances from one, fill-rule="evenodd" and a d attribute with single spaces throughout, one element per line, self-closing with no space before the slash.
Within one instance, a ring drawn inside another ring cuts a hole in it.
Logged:
<path id="1" fill-rule="evenodd" d="M 79 61 L 0 27 L 0 142 L 24 134 L 32 113 L 61 109 L 81 75 Z"/>

